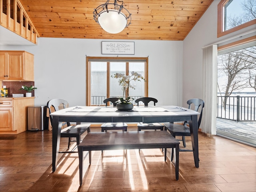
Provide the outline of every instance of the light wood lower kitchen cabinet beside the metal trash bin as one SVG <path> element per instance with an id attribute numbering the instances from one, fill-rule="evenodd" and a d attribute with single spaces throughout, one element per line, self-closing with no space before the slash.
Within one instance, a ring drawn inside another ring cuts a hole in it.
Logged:
<path id="1" fill-rule="evenodd" d="M 34 97 L 0 98 L 0 134 L 18 134 L 28 130 L 28 106 Z"/>

